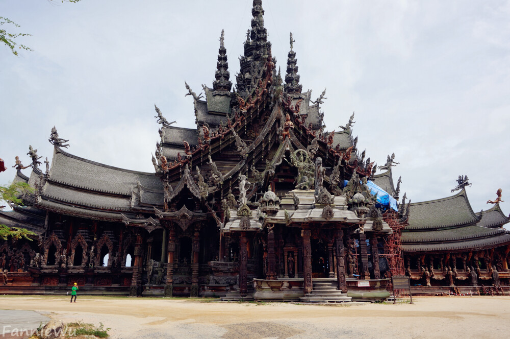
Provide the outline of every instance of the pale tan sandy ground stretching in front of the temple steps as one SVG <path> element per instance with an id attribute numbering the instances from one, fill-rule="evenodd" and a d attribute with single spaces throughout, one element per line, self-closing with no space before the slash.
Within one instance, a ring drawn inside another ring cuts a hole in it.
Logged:
<path id="1" fill-rule="evenodd" d="M 510 297 L 420 297 L 410 304 L 315 306 L 79 296 L 0 297 L 0 309 L 103 323 L 111 338 L 504 338 Z"/>

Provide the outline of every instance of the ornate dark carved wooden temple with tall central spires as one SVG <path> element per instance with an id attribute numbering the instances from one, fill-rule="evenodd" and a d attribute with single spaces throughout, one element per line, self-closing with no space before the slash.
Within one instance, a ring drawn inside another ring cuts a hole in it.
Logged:
<path id="1" fill-rule="evenodd" d="M 90 294 L 345 302 L 387 298 L 395 275 L 419 293 L 507 290 L 499 204 L 475 213 L 464 187 L 398 203 L 395 156 L 377 166 L 360 152 L 354 115 L 328 133 L 325 90 L 315 100 L 302 91 L 292 34 L 282 75 L 261 0 L 251 13 L 235 88 L 223 32 L 212 87 L 197 95 L 185 84 L 195 129 L 156 107 L 154 173 L 72 155 L 55 128 L 51 164 L 30 147 L 31 172 L 18 161 L 14 181 L 33 191 L 0 224 L 35 235 L 0 240 L 0 293 L 77 282 Z"/>

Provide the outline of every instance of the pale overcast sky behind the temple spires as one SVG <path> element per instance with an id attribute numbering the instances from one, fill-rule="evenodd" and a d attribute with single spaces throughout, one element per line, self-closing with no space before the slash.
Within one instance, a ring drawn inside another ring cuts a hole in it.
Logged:
<path id="1" fill-rule="evenodd" d="M 0 16 L 30 33 L 19 56 L 0 46 L 0 157 L 30 163 L 29 144 L 53 154 L 55 125 L 68 152 L 154 172 L 154 104 L 194 127 L 186 80 L 212 86 L 219 47 L 231 80 L 251 20 L 251 0 L 2 0 Z M 303 90 L 318 96 L 327 129 L 355 111 L 359 148 L 379 164 L 395 152 L 394 179 L 412 201 L 450 196 L 458 175 L 473 183 L 475 212 L 503 189 L 510 212 L 510 2 L 263 1 L 277 66 L 289 32 Z M 43 159 L 41 159 L 43 160 Z M 23 171 L 29 174 L 29 169 Z M 93 174 L 91 174 L 93 175 Z"/>

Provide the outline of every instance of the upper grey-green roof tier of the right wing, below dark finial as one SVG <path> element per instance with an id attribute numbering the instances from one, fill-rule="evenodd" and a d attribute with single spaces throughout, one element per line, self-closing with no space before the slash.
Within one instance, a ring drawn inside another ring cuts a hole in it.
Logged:
<path id="1" fill-rule="evenodd" d="M 466 190 L 437 200 L 411 204 L 409 226 L 406 230 L 437 229 L 441 227 L 472 225 L 479 217 L 469 204 Z"/>

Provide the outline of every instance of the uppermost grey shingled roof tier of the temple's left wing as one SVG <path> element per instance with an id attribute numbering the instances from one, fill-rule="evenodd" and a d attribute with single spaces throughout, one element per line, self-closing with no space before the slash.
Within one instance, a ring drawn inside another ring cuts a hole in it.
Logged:
<path id="1" fill-rule="evenodd" d="M 83 159 L 55 148 L 49 181 L 96 192 L 129 196 L 138 182 L 144 187 L 162 189 L 154 173 L 130 171 Z"/>

